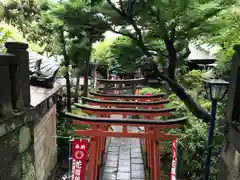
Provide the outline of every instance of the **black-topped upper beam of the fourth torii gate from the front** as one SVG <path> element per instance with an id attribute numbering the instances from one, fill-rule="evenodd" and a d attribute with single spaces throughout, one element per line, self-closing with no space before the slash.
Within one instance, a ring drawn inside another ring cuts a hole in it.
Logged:
<path id="1" fill-rule="evenodd" d="M 161 94 L 156 94 L 156 95 L 150 95 L 150 96 L 146 96 L 146 95 L 120 95 L 120 94 L 103 94 L 100 92 L 89 92 L 90 95 L 93 96 L 100 96 L 100 97 L 118 97 L 118 98 L 142 98 L 142 99 L 151 99 L 151 98 L 160 98 L 160 97 L 164 97 L 166 94 L 161 93 Z"/>

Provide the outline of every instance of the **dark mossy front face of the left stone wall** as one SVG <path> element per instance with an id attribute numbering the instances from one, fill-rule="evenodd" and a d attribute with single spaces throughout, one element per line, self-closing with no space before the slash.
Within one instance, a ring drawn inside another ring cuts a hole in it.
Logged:
<path id="1" fill-rule="evenodd" d="M 33 121 L 28 114 L 0 123 L 0 179 L 34 180 Z"/>

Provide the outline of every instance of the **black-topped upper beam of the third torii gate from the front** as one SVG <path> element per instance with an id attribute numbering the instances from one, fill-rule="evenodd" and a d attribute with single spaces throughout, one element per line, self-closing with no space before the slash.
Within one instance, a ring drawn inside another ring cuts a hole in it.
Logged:
<path id="1" fill-rule="evenodd" d="M 85 102 L 94 102 L 99 104 L 127 104 L 127 105 L 159 105 L 169 103 L 169 100 L 161 100 L 161 101 L 149 101 L 149 102 L 142 102 L 142 101 L 107 101 L 107 100 L 98 100 L 92 99 L 88 97 L 82 97 Z"/>

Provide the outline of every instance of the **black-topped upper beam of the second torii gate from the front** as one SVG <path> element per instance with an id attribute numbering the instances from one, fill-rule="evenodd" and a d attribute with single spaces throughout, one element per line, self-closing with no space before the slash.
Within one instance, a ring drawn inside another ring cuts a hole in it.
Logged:
<path id="1" fill-rule="evenodd" d="M 78 108 L 90 110 L 90 111 L 105 111 L 105 112 L 138 112 L 138 113 L 161 113 L 161 112 L 170 112 L 176 109 L 176 107 L 164 108 L 164 109 L 136 109 L 136 108 L 98 108 L 82 105 L 79 103 L 74 103 Z"/>

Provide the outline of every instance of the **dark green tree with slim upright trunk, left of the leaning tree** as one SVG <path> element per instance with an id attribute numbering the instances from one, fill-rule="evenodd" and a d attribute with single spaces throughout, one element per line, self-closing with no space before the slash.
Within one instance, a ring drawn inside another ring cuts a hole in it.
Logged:
<path id="1" fill-rule="evenodd" d="M 97 7 L 97 1 L 71 0 L 63 3 L 62 7 L 55 11 L 55 15 L 61 19 L 67 27 L 67 31 L 69 32 L 70 37 L 73 39 L 73 44 L 77 41 L 79 43 L 80 41 L 84 42 L 80 43 L 82 44 L 80 48 L 85 50 L 86 54 L 83 56 L 81 55 L 81 58 L 78 59 L 79 61 L 84 60 L 85 64 L 83 96 L 88 95 L 88 75 L 91 53 L 93 50 L 92 45 L 94 42 L 103 38 L 103 33 L 108 27 L 99 13 L 96 11 Z M 78 51 L 81 49 L 78 49 Z M 84 51 L 81 51 L 81 53 L 83 52 Z M 82 65 L 79 62 L 76 64 L 78 64 L 78 66 Z M 78 79 L 79 78 L 80 72 L 78 73 Z"/>

